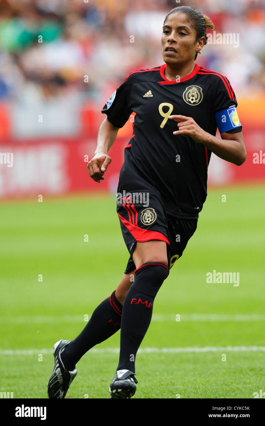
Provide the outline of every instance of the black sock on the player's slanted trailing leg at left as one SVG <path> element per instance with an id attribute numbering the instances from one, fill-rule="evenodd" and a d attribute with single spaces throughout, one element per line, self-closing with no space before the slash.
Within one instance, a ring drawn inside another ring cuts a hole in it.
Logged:
<path id="1" fill-rule="evenodd" d="M 72 371 L 85 352 L 120 330 L 122 310 L 123 305 L 115 297 L 115 291 L 97 306 L 83 331 L 61 354 L 67 370 Z"/>

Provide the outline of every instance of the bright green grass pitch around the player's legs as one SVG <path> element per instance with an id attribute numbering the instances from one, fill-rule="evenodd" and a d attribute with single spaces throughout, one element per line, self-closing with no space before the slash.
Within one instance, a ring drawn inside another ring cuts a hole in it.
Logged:
<path id="1" fill-rule="evenodd" d="M 134 398 L 265 391 L 264 199 L 260 186 L 208 191 L 197 230 L 155 299 Z M 0 391 L 46 398 L 53 344 L 76 337 L 84 315 L 116 288 L 128 252 L 115 209 L 114 198 L 91 195 L 1 204 Z M 213 270 L 239 272 L 239 285 L 206 283 Z M 85 354 L 66 397 L 109 397 L 119 343 L 120 332 Z"/>

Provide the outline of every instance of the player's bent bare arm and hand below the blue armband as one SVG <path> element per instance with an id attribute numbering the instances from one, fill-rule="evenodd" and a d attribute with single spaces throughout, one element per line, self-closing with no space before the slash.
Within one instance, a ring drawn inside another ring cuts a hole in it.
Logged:
<path id="1" fill-rule="evenodd" d="M 225 161 L 241 166 L 247 158 L 242 132 L 221 133 L 221 138 L 205 132 L 191 117 L 185 115 L 171 115 L 168 118 L 178 123 L 179 130 L 173 135 L 190 136 L 198 144 L 203 144 L 215 155 Z"/>

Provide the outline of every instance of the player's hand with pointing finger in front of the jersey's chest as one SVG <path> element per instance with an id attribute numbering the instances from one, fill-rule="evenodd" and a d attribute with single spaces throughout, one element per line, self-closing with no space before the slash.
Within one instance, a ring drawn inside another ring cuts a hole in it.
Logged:
<path id="1" fill-rule="evenodd" d="M 203 144 L 208 133 L 205 132 L 191 117 L 185 115 L 170 115 L 168 118 L 178 123 L 179 130 L 173 132 L 173 135 L 190 136 L 198 144 Z"/>

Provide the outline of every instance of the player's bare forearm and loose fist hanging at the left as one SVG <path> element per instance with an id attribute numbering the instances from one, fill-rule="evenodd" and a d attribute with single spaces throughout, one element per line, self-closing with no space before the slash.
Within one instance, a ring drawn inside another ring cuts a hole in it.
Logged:
<path id="1" fill-rule="evenodd" d="M 119 127 L 115 127 L 106 117 L 100 125 L 97 135 L 97 147 L 92 160 L 88 162 L 89 176 L 97 183 L 104 180 L 103 175 L 111 163 L 108 150 L 114 144 Z"/>

